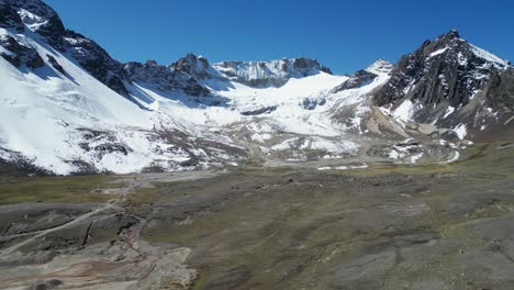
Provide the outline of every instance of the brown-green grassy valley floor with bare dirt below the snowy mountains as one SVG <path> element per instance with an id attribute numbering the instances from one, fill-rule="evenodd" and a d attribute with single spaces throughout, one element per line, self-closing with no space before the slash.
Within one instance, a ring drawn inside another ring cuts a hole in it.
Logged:
<path id="1" fill-rule="evenodd" d="M 5 177 L 0 289 L 513 289 L 513 160 Z"/>

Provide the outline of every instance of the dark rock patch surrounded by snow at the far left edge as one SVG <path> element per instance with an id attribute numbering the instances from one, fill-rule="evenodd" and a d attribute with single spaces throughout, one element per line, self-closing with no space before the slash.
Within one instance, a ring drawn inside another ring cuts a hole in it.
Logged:
<path id="1" fill-rule="evenodd" d="M 36 49 L 20 44 L 9 35 L 0 37 L 0 46 L 10 52 L 0 53 L 0 56 L 15 67 L 26 65 L 30 68 L 38 68 L 45 65 Z"/>

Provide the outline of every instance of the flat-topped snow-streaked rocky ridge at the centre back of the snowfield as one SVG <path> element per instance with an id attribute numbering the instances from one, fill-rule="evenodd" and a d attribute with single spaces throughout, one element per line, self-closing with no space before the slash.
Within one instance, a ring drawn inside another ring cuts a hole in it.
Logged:
<path id="1" fill-rule="evenodd" d="M 223 62 L 213 67 L 233 81 L 250 87 L 281 87 L 291 78 L 331 74 L 329 68 L 311 58 L 282 58 L 271 62 Z"/>

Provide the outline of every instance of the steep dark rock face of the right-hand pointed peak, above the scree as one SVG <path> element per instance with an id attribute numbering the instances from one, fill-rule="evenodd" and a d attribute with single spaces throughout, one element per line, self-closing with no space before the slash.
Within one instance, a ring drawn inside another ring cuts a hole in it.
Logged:
<path id="1" fill-rule="evenodd" d="M 376 94 L 375 102 L 394 109 L 404 100 L 411 100 L 425 108 L 416 112 L 415 121 L 429 123 L 440 116 L 434 113 L 434 108 L 467 105 L 477 92 L 489 86 L 493 76 L 501 75 L 507 67 L 506 60 L 490 57 L 460 38 L 456 31 L 450 31 L 403 56 L 389 82 Z"/>

